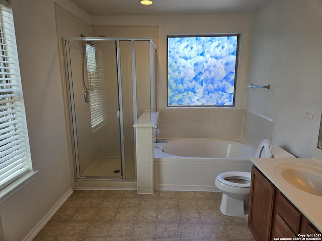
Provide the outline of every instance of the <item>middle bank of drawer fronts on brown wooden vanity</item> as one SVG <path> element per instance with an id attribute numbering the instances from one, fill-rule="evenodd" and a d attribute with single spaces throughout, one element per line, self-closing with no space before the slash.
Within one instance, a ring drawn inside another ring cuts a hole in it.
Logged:
<path id="1" fill-rule="evenodd" d="M 302 214 L 283 196 L 276 192 L 272 238 L 298 237 Z"/>

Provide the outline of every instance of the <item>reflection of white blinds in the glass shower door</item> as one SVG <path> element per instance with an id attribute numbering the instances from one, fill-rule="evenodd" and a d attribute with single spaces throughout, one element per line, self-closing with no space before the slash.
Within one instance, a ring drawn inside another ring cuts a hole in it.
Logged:
<path id="1" fill-rule="evenodd" d="M 97 130 L 105 122 L 102 58 L 95 47 L 85 44 L 90 93 L 91 126 Z"/>

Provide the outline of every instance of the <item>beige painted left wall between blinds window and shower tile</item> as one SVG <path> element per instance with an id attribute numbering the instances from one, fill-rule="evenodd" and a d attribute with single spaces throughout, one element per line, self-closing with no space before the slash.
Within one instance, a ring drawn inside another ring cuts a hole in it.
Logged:
<path id="1" fill-rule="evenodd" d="M 66 1 L 61 5 L 89 20 Z M 53 0 L 12 1 L 36 178 L 0 204 L 6 241 L 23 240 L 71 190 Z"/>

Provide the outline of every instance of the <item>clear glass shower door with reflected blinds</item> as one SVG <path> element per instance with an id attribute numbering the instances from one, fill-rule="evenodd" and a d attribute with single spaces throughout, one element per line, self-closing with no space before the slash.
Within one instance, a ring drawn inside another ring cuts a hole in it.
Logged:
<path id="1" fill-rule="evenodd" d="M 121 179 L 115 41 L 66 41 L 66 49 L 77 178 Z"/>

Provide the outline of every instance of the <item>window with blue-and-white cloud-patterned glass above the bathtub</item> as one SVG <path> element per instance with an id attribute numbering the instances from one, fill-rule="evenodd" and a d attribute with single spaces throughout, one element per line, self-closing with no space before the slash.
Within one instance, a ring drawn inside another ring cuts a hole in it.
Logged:
<path id="1" fill-rule="evenodd" d="M 239 35 L 168 36 L 167 106 L 234 106 Z"/>

